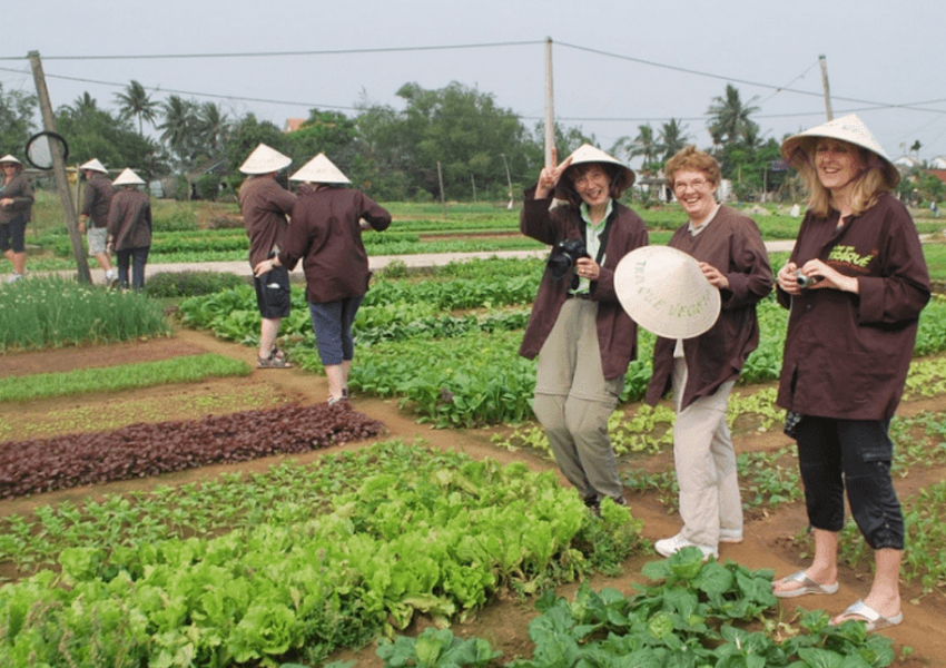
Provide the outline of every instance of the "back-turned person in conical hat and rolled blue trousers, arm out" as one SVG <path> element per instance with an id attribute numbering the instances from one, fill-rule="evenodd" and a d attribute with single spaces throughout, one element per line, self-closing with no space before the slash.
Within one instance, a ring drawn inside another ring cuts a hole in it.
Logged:
<path id="1" fill-rule="evenodd" d="M 302 259 L 318 355 L 328 377 L 328 403 L 335 404 L 348 399 L 355 354 L 352 323 L 371 281 L 362 229 L 386 229 L 391 214 L 361 190 L 343 187 L 351 181 L 324 154 L 289 179 L 307 185 L 299 189 L 285 244 L 277 256 L 257 264 L 254 273 L 262 276 L 280 266 L 293 269 Z"/>

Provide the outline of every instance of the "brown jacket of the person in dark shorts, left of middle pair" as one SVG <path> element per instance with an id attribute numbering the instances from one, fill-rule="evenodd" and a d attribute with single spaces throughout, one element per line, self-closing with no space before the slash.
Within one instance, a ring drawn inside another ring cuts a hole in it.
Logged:
<path id="1" fill-rule="evenodd" d="M 252 176 L 239 187 L 239 208 L 249 237 L 249 266 L 256 267 L 276 246 L 282 248 L 288 222 L 286 216 L 296 196 L 269 176 Z"/>

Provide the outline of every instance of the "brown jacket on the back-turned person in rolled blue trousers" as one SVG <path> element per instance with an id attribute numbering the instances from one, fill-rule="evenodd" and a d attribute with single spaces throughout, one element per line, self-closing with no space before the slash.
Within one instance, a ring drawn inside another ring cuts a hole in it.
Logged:
<path id="1" fill-rule="evenodd" d="M 307 301 L 319 304 L 367 292 L 362 218 L 378 232 L 391 225 L 391 214 L 361 190 L 332 187 L 299 194 L 279 264 L 292 271 L 302 259 Z"/>

